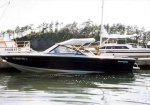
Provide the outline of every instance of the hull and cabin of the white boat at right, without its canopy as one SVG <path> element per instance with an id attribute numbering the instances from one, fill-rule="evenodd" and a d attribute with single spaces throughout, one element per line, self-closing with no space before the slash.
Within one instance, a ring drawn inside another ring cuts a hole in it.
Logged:
<path id="1" fill-rule="evenodd" d="M 112 53 L 116 56 L 125 56 L 125 57 L 150 57 L 150 49 L 149 48 L 134 48 L 130 44 L 117 44 L 117 43 L 109 43 L 104 44 L 99 48 L 100 52 Z"/>

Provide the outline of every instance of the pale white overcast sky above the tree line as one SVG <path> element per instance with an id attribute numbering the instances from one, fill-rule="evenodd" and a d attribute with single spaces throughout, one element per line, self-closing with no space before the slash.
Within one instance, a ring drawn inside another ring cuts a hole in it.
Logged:
<path id="1" fill-rule="evenodd" d="M 102 0 L 0 0 L 0 31 L 52 21 L 101 24 L 101 17 Z M 103 24 L 116 23 L 150 31 L 150 0 L 104 0 Z"/>

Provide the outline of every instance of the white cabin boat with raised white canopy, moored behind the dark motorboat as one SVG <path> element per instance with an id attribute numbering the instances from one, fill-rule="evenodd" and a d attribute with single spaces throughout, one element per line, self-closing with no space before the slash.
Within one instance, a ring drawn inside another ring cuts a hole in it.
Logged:
<path id="1" fill-rule="evenodd" d="M 103 27 L 102 31 L 102 39 L 104 40 L 99 46 L 100 52 L 111 53 L 116 56 L 125 56 L 125 57 L 150 57 L 150 49 L 143 48 L 135 43 L 127 43 L 127 38 L 133 39 L 135 37 L 139 37 L 137 34 L 124 35 L 120 34 L 108 34 L 107 31 Z"/>

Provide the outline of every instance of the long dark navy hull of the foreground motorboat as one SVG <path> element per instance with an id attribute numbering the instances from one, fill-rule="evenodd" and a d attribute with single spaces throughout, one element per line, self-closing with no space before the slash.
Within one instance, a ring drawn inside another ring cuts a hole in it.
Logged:
<path id="1" fill-rule="evenodd" d="M 133 59 L 103 59 L 98 57 L 6 55 L 2 58 L 21 71 L 70 74 L 131 72 L 135 63 Z"/>

